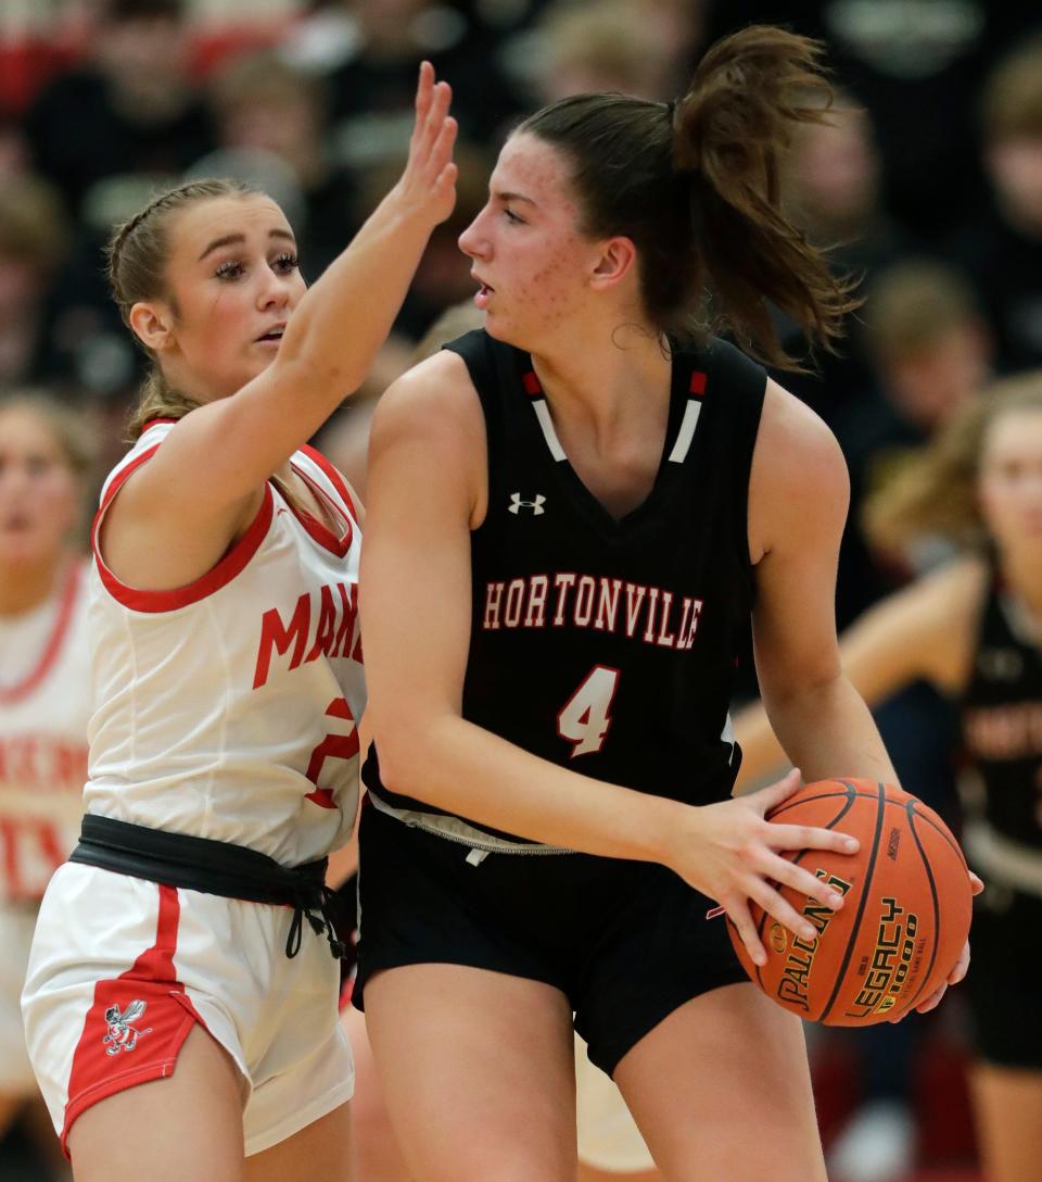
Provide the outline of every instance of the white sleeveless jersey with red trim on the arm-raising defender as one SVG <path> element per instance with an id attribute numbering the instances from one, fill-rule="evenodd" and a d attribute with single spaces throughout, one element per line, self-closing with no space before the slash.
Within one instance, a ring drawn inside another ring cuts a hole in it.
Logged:
<path id="1" fill-rule="evenodd" d="M 98 531 L 171 429 L 149 426 L 95 519 L 86 810 L 300 865 L 343 844 L 354 818 L 365 706 L 354 507 L 339 473 L 305 448 L 293 468 L 339 534 L 269 482 L 213 570 L 172 591 L 129 587 L 105 566 Z"/>

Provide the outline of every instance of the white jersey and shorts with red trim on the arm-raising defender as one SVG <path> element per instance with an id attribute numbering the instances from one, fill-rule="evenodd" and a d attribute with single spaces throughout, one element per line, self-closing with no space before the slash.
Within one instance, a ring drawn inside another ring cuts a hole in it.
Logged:
<path id="1" fill-rule="evenodd" d="M 207 574 L 172 591 L 135 590 L 105 566 L 98 530 L 172 429 L 145 430 L 106 481 L 95 521 L 86 811 L 248 846 L 287 866 L 312 862 L 346 839 L 358 791 L 362 537 L 351 495 L 302 449 L 293 467 L 338 531 L 268 483 L 253 522 Z M 247 1152 L 350 1098 L 338 966 L 310 931 L 288 960 L 291 918 L 288 908 L 63 866 L 22 999 L 30 1056 L 63 1137 L 96 1100 L 169 1074 L 194 1021 L 252 1087 Z"/>

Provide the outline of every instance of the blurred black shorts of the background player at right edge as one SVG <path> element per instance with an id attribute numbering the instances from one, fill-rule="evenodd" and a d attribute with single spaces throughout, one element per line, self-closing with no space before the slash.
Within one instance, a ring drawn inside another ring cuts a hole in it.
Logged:
<path id="1" fill-rule="evenodd" d="M 1042 1070 L 1042 898 L 986 882 L 973 900 L 970 1014 L 978 1056 L 1004 1067 Z"/>

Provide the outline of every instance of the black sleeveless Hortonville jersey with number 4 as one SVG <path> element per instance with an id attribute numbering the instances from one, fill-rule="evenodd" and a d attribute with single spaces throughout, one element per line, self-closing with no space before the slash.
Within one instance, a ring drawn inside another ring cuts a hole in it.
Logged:
<path id="1" fill-rule="evenodd" d="M 445 348 L 467 363 L 488 439 L 463 716 L 594 779 L 724 799 L 764 370 L 722 340 L 675 353 L 654 486 L 617 520 L 568 463 L 530 357 L 480 330 Z M 437 811 L 384 787 L 373 752 L 363 778 L 392 806 Z"/>

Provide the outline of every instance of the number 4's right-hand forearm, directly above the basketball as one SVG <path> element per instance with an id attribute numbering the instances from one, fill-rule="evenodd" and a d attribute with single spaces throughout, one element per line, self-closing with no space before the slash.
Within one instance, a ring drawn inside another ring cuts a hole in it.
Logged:
<path id="1" fill-rule="evenodd" d="M 807 781 L 858 777 L 897 784 L 872 714 L 842 674 L 784 697 L 764 695 L 781 747 Z"/>

